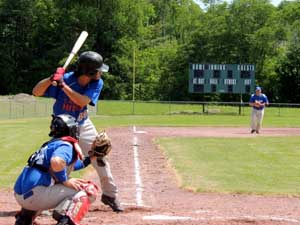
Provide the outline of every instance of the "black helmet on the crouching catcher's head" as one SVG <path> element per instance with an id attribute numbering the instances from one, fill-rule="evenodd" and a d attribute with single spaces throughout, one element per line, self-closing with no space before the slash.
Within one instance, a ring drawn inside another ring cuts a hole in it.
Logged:
<path id="1" fill-rule="evenodd" d="M 71 136 L 78 140 L 79 128 L 76 119 L 68 114 L 52 115 L 50 137 L 60 138 Z"/>

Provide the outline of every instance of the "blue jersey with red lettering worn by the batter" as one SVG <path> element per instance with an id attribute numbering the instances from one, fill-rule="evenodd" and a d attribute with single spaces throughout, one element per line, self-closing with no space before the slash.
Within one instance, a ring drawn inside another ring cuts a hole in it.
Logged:
<path id="1" fill-rule="evenodd" d="M 74 72 L 69 72 L 64 74 L 64 82 L 72 88 L 72 90 L 78 92 L 79 94 L 86 95 L 91 99 L 90 105 L 95 106 L 100 92 L 103 87 L 103 80 L 91 81 L 87 86 L 82 87 L 78 83 L 78 78 L 74 75 Z M 55 115 L 59 114 L 69 114 L 77 119 L 79 124 L 88 117 L 87 106 L 80 107 L 76 105 L 65 92 L 57 86 L 49 86 L 45 92 L 45 96 L 55 98 L 56 101 L 53 105 L 53 113 Z"/>

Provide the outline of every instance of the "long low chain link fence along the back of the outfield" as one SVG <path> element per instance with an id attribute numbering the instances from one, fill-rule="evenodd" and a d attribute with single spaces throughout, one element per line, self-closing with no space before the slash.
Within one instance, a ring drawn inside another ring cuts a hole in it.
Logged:
<path id="1" fill-rule="evenodd" d="M 47 117 L 52 114 L 54 100 L 31 95 L 0 98 L 0 119 Z M 191 101 L 113 101 L 101 100 L 97 107 L 89 107 L 89 115 L 250 115 L 245 102 Z M 270 103 L 267 114 L 281 117 L 300 115 L 300 104 Z"/>

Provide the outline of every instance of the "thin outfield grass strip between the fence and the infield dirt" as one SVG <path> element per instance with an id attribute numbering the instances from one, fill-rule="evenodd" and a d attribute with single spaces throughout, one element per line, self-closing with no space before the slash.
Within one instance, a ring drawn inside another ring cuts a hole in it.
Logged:
<path id="1" fill-rule="evenodd" d="M 98 127 L 110 126 L 217 126 L 250 127 L 250 116 L 233 115 L 137 115 L 96 116 Z M 300 119 L 265 115 L 263 127 L 300 127 Z"/>

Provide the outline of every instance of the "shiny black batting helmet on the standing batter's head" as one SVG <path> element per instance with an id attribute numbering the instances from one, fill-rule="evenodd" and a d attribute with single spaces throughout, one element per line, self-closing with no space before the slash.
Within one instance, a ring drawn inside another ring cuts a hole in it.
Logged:
<path id="1" fill-rule="evenodd" d="M 102 56 L 97 52 L 87 51 L 79 56 L 78 71 L 81 74 L 93 76 L 97 71 L 108 72 L 108 69 L 108 65 L 103 63 Z"/>

